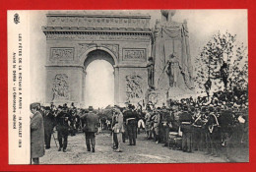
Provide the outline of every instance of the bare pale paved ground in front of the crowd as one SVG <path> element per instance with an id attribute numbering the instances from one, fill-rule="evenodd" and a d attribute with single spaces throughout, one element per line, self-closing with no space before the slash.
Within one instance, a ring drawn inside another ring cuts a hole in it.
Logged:
<path id="1" fill-rule="evenodd" d="M 56 136 L 56 133 L 55 133 Z M 184 163 L 227 162 L 224 156 L 213 157 L 201 151 L 186 153 L 163 147 L 161 143 L 147 141 L 145 134 L 138 135 L 137 145 L 122 144 L 123 152 L 114 152 L 108 133 L 96 135 L 96 152 L 88 152 L 84 134 L 68 138 L 67 152 L 58 151 L 54 141 L 40 158 L 41 164 L 97 164 L 97 163 Z M 243 158 L 243 157 L 242 157 Z"/>

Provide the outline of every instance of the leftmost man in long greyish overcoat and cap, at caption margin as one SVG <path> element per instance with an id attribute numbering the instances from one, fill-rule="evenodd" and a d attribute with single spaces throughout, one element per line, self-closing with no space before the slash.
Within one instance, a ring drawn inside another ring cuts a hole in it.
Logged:
<path id="1" fill-rule="evenodd" d="M 43 118 L 39 110 L 39 103 L 31 104 L 31 158 L 33 164 L 39 164 L 39 157 L 44 155 Z"/>

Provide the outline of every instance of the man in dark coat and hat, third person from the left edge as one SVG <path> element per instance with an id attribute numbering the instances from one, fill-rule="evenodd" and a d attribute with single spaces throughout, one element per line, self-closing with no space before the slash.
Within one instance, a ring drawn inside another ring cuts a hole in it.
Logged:
<path id="1" fill-rule="evenodd" d="M 59 149 L 61 151 L 66 152 L 66 148 L 68 145 L 68 135 L 69 135 L 69 128 L 70 128 L 70 115 L 68 113 L 68 109 L 66 107 L 58 107 L 59 112 L 56 116 L 57 126 L 56 129 L 58 131 L 58 141 L 59 141 Z M 62 143 L 62 141 L 64 141 Z"/>

